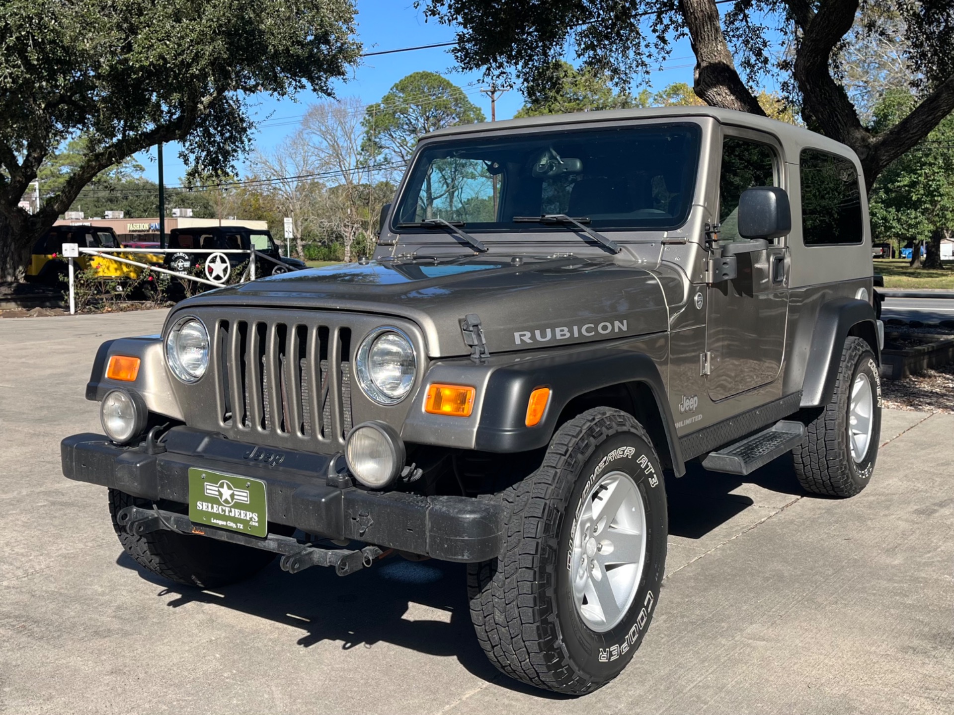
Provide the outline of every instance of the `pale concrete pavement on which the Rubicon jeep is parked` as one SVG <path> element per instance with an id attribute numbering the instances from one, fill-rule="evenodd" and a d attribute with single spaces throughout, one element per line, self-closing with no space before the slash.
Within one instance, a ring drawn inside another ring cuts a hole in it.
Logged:
<path id="1" fill-rule="evenodd" d="M 582 699 L 497 674 L 464 569 L 277 563 L 219 592 L 122 552 L 58 441 L 98 431 L 96 346 L 163 314 L 0 321 L 0 712 L 950 713 L 954 416 L 887 412 L 871 486 L 803 496 L 784 458 L 668 484 L 667 579 L 633 664 Z M 56 515 L 56 519 L 52 515 Z"/>

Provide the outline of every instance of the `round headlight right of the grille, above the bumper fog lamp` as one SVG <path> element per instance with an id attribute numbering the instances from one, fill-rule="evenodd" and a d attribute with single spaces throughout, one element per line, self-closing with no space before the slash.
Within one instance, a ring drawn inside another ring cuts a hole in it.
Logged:
<path id="1" fill-rule="evenodd" d="M 355 370 L 365 395 L 379 404 L 395 404 L 414 385 L 414 347 L 396 328 L 379 328 L 358 348 Z"/>

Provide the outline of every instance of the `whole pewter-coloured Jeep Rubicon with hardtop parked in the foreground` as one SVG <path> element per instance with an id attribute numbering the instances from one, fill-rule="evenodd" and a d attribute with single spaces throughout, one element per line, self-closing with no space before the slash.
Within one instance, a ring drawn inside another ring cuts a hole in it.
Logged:
<path id="1" fill-rule="evenodd" d="M 860 174 L 819 134 L 708 108 L 428 135 L 373 259 L 105 343 L 106 436 L 64 439 L 64 474 L 108 487 L 123 546 L 179 583 L 276 555 L 466 562 L 490 661 L 589 692 L 653 620 L 687 460 L 745 475 L 790 452 L 832 497 L 871 479 Z"/>

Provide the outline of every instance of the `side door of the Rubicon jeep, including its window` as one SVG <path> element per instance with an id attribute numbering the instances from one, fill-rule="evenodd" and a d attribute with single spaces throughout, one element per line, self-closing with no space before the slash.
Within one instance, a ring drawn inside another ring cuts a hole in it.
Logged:
<path id="1" fill-rule="evenodd" d="M 781 146 L 769 134 L 724 128 L 719 169 L 720 247 L 738 235 L 738 201 L 746 189 L 784 186 Z M 778 378 L 788 320 L 785 238 L 768 249 L 736 255 L 732 280 L 709 286 L 706 350 L 709 397 L 719 400 Z"/>

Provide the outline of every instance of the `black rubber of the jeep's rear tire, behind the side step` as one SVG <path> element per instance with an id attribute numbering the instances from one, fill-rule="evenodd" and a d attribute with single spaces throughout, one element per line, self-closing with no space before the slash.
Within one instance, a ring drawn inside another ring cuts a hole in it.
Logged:
<path id="1" fill-rule="evenodd" d="M 848 413 L 855 378 L 865 372 L 874 395 L 868 451 L 861 462 L 851 456 Z M 805 438 L 792 450 L 795 474 L 802 488 L 826 497 L 854 497 L 868 485 L 878 459 L 881 437 L 881 379 L 871 347 L 861 337 L 847 337 L 831 400 L 806 424 Z"/>

